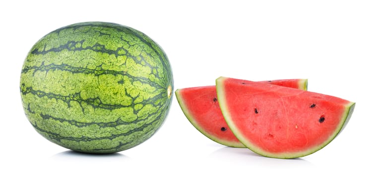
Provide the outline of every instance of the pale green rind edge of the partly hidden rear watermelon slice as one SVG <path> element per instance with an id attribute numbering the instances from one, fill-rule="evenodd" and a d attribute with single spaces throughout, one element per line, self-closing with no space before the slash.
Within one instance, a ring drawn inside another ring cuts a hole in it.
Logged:
<path id="1" fill-rule="evenodd" d="M 183 102 L 183 98 L 182 98 L 182 95 L 180 94 L 180 91 L 182 89 L 177 89 L 175 91 L 175 95 L 177 97 L 177 100 L 178 100 L 178 103 L 179 105 L 181 106 L 181 109 L 184 113 L 184 115 L 186 115 L 186 118 L 188 119 L 188 121 L 199 131 L 201 132 L 203 135 L 205 135 L 206 137 L 210 138 L 211 140 L 217 142 L 217 143 L 220 143 L 222 145 L 226 145 L 226 146 L 230 146 L 230 147 L 236 147 L 236 148 L 246 148 L 245 145 L 243 145 L 241 142 L 231 142 L 231 141 L 228 141 L 228 140 L 223 140 L 223 139 L 220 139 L 210 133 L 207 133 L 206 131 L 204 131 L 200 126 L 199 124 L 197 123 L 197 121 L 195 121 L 193 119 L 193 115 L 188 111 L 188 108 L 186 106 L 186 104 Z"/>

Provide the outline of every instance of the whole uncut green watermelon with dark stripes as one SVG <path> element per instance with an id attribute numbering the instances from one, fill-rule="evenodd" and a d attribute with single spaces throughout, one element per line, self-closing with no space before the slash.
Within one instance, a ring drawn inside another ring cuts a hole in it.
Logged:
<path id="1" fill-rule="evenodd" d="M 33 45 L 20 94 L 31 125 L 65 148 L 114 153 L 151 137 L 164 123 L 173 75 L 162 48 L 120 24 L 84 22 Z"/>

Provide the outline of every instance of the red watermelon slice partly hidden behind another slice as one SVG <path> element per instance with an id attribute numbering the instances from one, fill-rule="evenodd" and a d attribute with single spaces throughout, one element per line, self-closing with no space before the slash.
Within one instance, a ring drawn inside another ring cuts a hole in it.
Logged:
<path id="1" fill-rule="evenodd" d="M 262 81 L 273 85 L 307 89 L 306 79 Z M 219 108 L 215 86 L 189 87 L 175 91 L 179 105 L 189 122 L 202 134 L 222 145 L 245 147 L 229 130 Z"/>

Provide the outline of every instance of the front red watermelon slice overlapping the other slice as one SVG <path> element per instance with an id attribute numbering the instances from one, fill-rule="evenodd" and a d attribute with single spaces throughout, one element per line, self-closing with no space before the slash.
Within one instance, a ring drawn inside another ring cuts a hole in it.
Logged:
<path id="1" fill-rule="evenodd" d="M 257 154 L 297 158 L 318 151 L 345 128 L 354 102 L 264 83 L 216 80 L 223 116 L 236 137 Z"/>

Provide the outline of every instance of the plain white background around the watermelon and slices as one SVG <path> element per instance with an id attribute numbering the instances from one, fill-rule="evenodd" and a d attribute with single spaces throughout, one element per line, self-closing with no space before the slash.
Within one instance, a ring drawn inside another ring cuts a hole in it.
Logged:
<path id="1" fill-rule="evenodd" d="M 367 0 L 2 0 L 0 172 L 370 172 L 371 2 Z M 309 79 L 309 90 L 356 102 L 348 126 L 300 159 L 219 145 L 193 128 L 176 98 L 162 128 L 112 155 L 71 152 L 39 135 L 23 113 L 27 52 L 62 26 L 106 21 L 133 27 L 167 53 L 175 88 L 247 80 Z"/>

